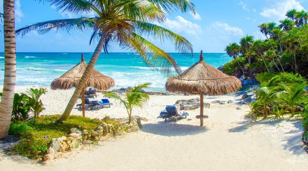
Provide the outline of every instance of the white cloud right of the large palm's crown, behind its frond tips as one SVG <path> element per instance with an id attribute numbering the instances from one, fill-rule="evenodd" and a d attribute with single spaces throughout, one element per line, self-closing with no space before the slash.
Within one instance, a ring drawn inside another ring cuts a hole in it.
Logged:
<path id="1" fill-rule="evenodd" d="M 203 33 L 200 25 L 192 23 L 179 15 L 175 17 L 175 20 L 170 20 L 167 18 L 164 23 L 159 23 L 158 25 L 162 25 L 176 33 L 187 33 L 189 35 L 198 35 Z"/>

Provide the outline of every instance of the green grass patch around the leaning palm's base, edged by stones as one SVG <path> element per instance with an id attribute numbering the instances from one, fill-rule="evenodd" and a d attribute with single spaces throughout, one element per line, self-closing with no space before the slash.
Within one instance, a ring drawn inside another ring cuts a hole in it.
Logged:
<path id="1" fill-rule="evenodd" d="M 79 125 L 81 126 L 80 130 L 94 130 L 103 122 L 99 119 L 70 116 L 64 121 L 64 124 L 54 123 L 59 118 L 60 115 L 52 115 L 12 122 L 9 134 L 21 140 L 12 148 L 12 153 L 31 159 L 39 159 L 46 153 L 48 143 L 52 138 L 68 136 L 70 129 L 77 128 Z M 47 136 L 49 138 L 46 138 Z"/>

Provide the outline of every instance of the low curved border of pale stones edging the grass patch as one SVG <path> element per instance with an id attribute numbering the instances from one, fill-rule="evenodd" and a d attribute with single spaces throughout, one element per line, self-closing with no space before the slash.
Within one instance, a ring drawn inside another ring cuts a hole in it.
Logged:
<path id="1" fill-rule="evenodd" d="M 111 120 L 106 116 L 103 120 Z M 50 165 L 54 158 L 57 158 L 61 153 L 80 149 L 85 140 L 98 141 L 107 136 L 120 136 L 129 132 L 136 132 L 142 128 L 139 116 L 133 116 L 132 121 L 128 124 L 128 118 L 119 119 L 117 125 L 102 123 L 95 130 L 71 128 L 71 133 L 66 137 L 52 138 L 47 154 L 43 157 L 42 165 Z"/>

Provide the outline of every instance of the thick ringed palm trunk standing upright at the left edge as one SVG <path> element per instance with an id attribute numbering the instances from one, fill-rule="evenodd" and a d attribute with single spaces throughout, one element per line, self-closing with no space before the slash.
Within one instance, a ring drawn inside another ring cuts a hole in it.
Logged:
<path id="1" fill-rule="evenodd" d="M 0 102 L 0 140 L 4 139 L 10 128 L 16 80 L 16 42 L 14 0 L 3 1 L 4 11 L 4 85 Z"/>

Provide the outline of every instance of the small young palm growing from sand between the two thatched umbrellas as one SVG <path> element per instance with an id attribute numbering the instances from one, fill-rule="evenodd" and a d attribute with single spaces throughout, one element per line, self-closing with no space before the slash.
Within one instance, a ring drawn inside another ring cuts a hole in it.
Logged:
<path id="1" fill-rule="evenodd" d="M 132 87 L 131 92 L 128 92 L 125 94 L 123 98 L 120 96 L 114 94 L 114 93 L 105 93 L 104 95 L 106 97 L 115 98 L 116 100 L 120 100 L 120 103 L 123 103 L 127 114 L 128 114 L 128 124 L 132 121 L 132 109 L 134 106 L 142 108 L 144 103 L 149 99 L 149 96 L 143 92 L 140 92 L 142 88 L 148 88 L 151 85 L 151 83 L 144 83 L 135 85 Z"/>

